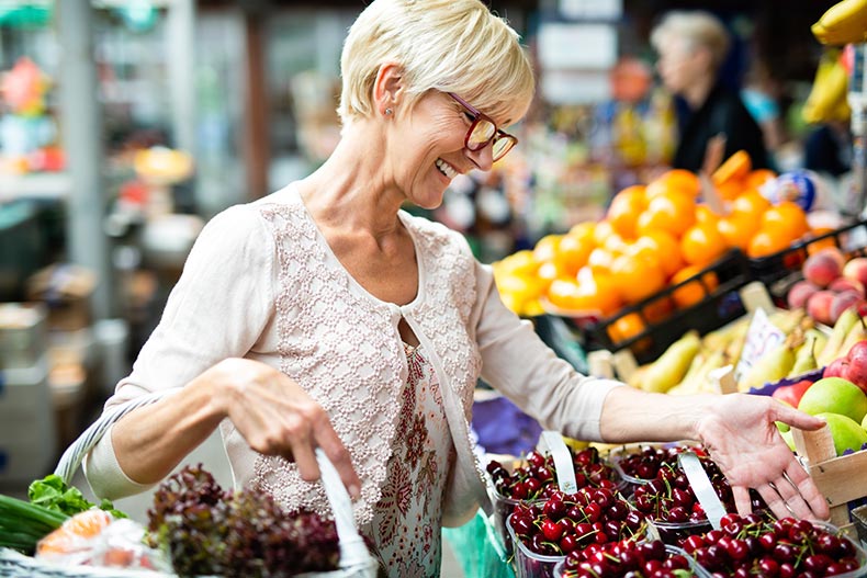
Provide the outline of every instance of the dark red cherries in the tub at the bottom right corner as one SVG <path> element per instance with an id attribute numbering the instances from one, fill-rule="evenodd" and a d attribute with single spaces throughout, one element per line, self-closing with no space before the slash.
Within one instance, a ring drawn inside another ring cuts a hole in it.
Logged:
<path id="1" fill-rule="evenodd" d="M 808 520 L 775 520 L 767 511 L 729 513 L 720 526 L 683 544 L 714 578 L 823 578 L 860 567 L 852 542 Z"/>

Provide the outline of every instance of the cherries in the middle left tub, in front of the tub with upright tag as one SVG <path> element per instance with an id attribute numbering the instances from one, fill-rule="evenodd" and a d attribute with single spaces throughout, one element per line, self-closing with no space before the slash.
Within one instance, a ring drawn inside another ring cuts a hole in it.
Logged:
<path id="1" fill-rule="evenodd" d="M 610 488 L 585 486 L 575 494 L 555 490 L 543 505 L 521 502 L 508 523 L 518 540 L 541 556 L 563 556 L 592 544 L 645 533 L 644 517 Z"/>

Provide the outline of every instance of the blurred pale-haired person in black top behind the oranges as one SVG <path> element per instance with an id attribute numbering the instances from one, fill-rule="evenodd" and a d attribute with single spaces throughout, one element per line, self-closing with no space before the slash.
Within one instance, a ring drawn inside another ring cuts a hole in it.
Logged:
<path id="1" fill-rule="evenodd" d="M 719 78 L 731 39 L 714 15 L 702 11 L 666 13 L 651 32 L 663 84 L 677 98 L 678 144 L 673 167 L 712 172 L 739 150 L 754 168 L 767 168 L 758 124 L 737 92 Z"/>

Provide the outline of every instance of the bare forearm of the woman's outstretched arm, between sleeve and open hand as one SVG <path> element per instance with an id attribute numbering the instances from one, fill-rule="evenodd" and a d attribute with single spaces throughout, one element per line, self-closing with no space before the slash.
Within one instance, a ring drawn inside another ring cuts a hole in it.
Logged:
<path id="1" fill-rule="evenodd" d="M 599 430 L 607 443 L 698 440 L 700 420 L 710 415 L 713 400 L 618 387 L 605 399 Z"/>

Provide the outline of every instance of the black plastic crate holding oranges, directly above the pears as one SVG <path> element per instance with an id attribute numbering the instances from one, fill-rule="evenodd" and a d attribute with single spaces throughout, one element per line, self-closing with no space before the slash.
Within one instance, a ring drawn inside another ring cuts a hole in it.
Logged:
<path id="1" fill-rule="evenodd" d="M 719 284 L 710 288 L 702 277 L 708 273 L 717 276 Z M 705 335 L 746 313 L 739 290 L 753 281 L 748 260 L 741 251 L 733 249 L 700 272 L 638 303 L 620 309 L 616 315 L 605 318 L 563 317 L 572 327 L 586 351 L 605 349 L 617 352 L 630 349 L 639 363 L 656 360 L 665 350 L 695 329 Z M 701 301 L 686 308 L 675 308 L 673 294 L 689 283 L 698 282 L 705 291 Z M 654 311 L 667 308 L 671 313 L 656 318 Z M 644 329 L 627 339 L 616 341 L 609 329 L 621 318 L 635 314 L 641 318 Z"/>

